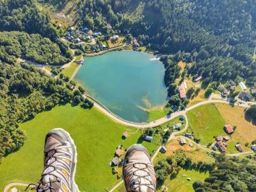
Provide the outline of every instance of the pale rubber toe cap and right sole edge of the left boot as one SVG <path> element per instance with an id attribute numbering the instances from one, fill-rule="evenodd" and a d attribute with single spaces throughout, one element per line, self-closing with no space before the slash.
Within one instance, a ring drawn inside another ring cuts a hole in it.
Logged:
<path id="1" fill-rule="evenodd" d="M 68 131 L 65 131 L 62 128 L 55 128 L 51 131 L 49 131 L 49 133 L 47 135 L 51 135 L 56 133 L 58 136 L 60 136 L 61 138 L 59 138 L 60 140 L 62 140 L 62 142 L 66 142 L 66 140 L 68 140 L 68 142 L 70 142 L 71 146 L 72 146 L 72 151 L 74 153 L 74 161 L 72 162 L 72 175 L 71 175 L 71 186 L 72 192 L 80 192 L 79 191 L 79 187 L 76 185 L 76 182 L 74 181 L 74 176 L 76 175 L 76 163 L 77 163 L 77 153 L 76 153 L 76 145 L 74 144 L 74 140 L 72 140 L 70 133 L 68 133 Z M 46 135 L 46 138 L 47 138 Z"/>

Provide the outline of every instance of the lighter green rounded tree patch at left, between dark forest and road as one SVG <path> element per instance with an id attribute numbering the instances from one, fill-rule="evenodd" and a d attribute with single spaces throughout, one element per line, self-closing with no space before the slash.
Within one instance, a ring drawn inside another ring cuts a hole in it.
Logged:
<path id="1" fill-rule="evenodd" d="M 41 35 L 12 31 L 0 32 L 0 59 L 5 63 L 16 63 L 15 58 L 27 59 L 40 64 L 63 65 L 70 61 L 68 47 L 59 46 Z"/>

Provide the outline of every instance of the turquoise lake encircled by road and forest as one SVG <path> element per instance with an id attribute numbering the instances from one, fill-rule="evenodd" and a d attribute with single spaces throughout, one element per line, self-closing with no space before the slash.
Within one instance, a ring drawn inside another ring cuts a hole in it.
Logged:
<path id="1" fill-rule="evenodd" d="M 85 57 L 76 80 L 117 116 L 147 122 L 145 109 L 165 104 L 165 67 L 153 54 L 122 50 Z"/>

